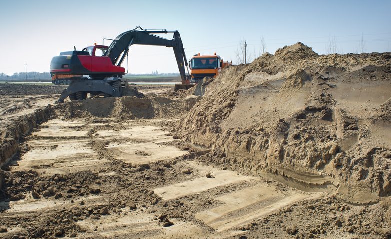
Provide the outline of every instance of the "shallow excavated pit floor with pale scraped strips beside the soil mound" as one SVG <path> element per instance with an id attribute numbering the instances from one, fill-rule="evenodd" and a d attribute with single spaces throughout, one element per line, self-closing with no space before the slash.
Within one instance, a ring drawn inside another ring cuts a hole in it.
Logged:
<path id="1" fill-rule="evenodd" d="M 31 231 L 23 219 L 38 214 L 59 217 L 62 235 L 81 238 L 205 238 L 210 230 L 226 238 L 254 219 L 321 196 L 183 161 L 197 151 L 189 153 L 167 127 L 181 107 L 164 97 L 98 98 L 51 106 L 44 119 L 27 117 L 33 127 L 17 133 L 23 151 L 8 162 L 3 197 L 10 198 L 0 204 L 20 223 L 0 217 L 8 231 L 1 236 L 34 237 L 40 224 Z M 69 213 L 77 216 L 67 222 Z M 49 228 L 55 235 L 60 227 Z"/>

